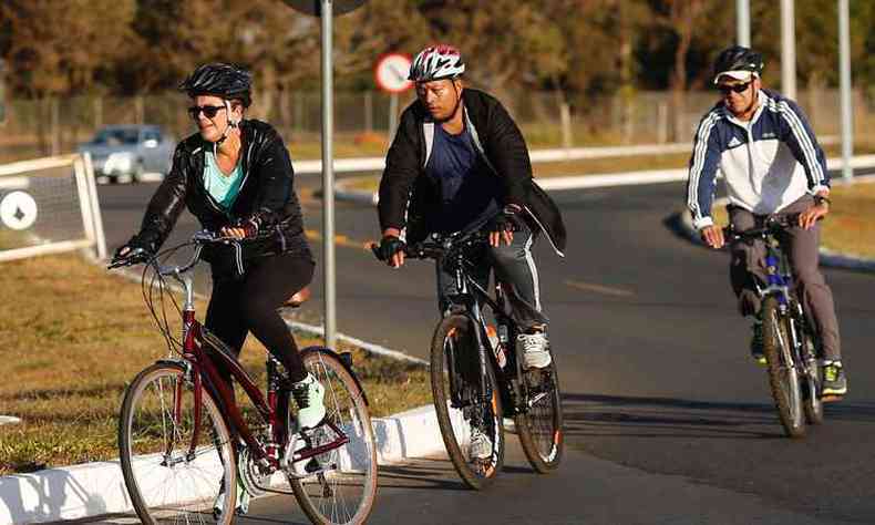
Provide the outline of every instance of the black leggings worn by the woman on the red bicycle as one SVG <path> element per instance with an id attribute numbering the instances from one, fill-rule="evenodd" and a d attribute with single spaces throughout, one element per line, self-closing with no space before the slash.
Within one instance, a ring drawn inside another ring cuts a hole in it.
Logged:
<path id="1" fill-rule="evenodd" d="M 281 362 L 291 381 L 307 377 L 295 338 L 277 311 L 295 292 L 310 284 L 313 261 L 299 254 L 267 256 L 246 261 L 240 280 L 216 279 L 209 299 L 206 328 L 239 356 L 246 334 L 253 332 Z M 219 370 L 226 379 L 230 373 Z"/>

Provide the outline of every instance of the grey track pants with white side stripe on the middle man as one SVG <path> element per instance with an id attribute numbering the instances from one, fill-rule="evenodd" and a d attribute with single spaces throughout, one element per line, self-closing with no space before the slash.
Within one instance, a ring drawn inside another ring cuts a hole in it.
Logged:
<path id="1" fill-rule="evenodd" d="M 471 276 L 483 288 L 490 284 L 490 270 L 502 284 L 507 298 L 507 315 L 523 329 L 546 325 L 548 319 L 541 312 L 541 287 L 535 259 L 532 257 L 532 245 L 535 237 L 527 226 L 514 231 L 511 245 L 501 244 L 497 248 L 490 246 L 475 268 L 470 268 Z M 449 296 L 456 294 L 455 275 L 437 266 L 437 307 L 441 312 L 450 305 Z"/>

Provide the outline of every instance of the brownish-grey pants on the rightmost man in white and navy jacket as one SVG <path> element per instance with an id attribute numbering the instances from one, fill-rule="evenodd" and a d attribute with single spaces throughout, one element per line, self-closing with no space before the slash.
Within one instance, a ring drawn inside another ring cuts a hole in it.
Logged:
<path id="1" fill-rule="evenodd" d="M 799 214 L 813 205 L 814 199 L 810 195 L 805 195 L 775 215 Z M 727 210 L 729 212 L 729 220 L 737 230 L 744 231 L 762 226 L 763 216 L 761 215 L 754 215 L 737 206 L 729 206 Z M 820 236 L 820 225 L 815 225 L 809 230 L 796 226 L 787 229 L 779 240 L 782 249 L 785 250 L 790 258 L 793 281 L 796 286 L 797 296 L 802 298 L 802 307 L 820 333 L 823 342 L 823 357 L 830 360 L 837 360 L 842 357 L 838 320 L 835 316 L 833 292 L 817 268 Z M 758 240 L 753 245 L 734 243 L 730 249 L 732 258 L 729 276 L 732 281 L 732 289 L 739 298 L 741 315 L 750 316 L 760 311 L 761 302 L 752 279 L 759 279 L 761 285 L 768 281 L 764 264 L 765 246 L 761 240 Z"/>

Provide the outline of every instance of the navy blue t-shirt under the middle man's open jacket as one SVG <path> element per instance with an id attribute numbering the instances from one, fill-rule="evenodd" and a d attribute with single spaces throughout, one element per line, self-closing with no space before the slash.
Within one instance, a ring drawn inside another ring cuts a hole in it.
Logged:
<path id="1" fill-rule="evenodd" d="M 432 230 L 451 234 L 480 227 L 498 212 L 498 177 L 477 155 L 467 126 L 459 135 L 434 126 L 425 172 L 440 188 L 441 206 Z"/>

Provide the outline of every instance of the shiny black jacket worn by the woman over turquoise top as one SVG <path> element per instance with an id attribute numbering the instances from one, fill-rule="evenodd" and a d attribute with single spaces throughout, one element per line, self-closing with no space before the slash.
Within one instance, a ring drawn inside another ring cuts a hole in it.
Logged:
<path id="1" fill-rule="evenodd" d="M 204 154 L 212 151 L 213 144 L 195 133 L 176 146 L 171 173 L 150 200 L 141 230 L 134 237 L 140 246 L 156 251 L 169 235 L 185 204 L 210 231 L 241 220 L 255 223 L 258 235 L 255 240 L 244 244 L 243 261 L 287 251 L 312 258 L 303 234 L 300 204 L 292 187 L 295 173 L 282 138 L 272 126 L 255 120 L 241 122 L 240 138 L 244 181 L 228 210 L 223 209 L 204 186 Z M 214 274 L 217 266 L 224 268 L 234 264 L 240 267 L 243 261 L 225 260 L 231 256 L 231 249 L 219 248 L 205 254 L 205 258 L 214 264 Z"/>

